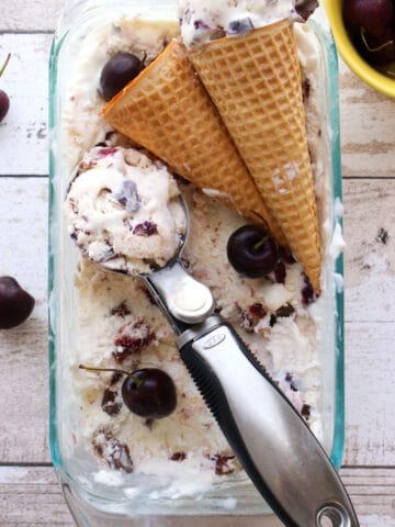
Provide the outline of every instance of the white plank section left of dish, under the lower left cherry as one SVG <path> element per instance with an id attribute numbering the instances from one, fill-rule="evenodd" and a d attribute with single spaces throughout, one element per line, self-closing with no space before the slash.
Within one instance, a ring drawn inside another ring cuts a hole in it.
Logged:
<path id="1" fill-rule="evenodd" d="M 49 460 L 47 179 L 0 177 L 0 274 L 15 277 L 36 299 L 29 321 L 0 332 L 0 459 L 43 462 Z"/>

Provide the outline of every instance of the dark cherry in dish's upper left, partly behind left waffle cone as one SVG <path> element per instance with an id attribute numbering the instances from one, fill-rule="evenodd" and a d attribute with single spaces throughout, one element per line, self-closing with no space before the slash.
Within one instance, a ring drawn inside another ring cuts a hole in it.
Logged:
<path id="1" fill-rule="evenodd" d="M 132 53 L 120 52 L 104 65 L 100 75 L 100 92 L 110 101 L 142 71 L 142 60 Z"/>

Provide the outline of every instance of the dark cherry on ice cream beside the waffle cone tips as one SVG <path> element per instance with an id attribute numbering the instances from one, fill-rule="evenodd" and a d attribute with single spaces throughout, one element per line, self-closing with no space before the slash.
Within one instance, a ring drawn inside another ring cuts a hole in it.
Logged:
<path id="1" fill-rule="evenodd" d="M 259 225 L 244 225 L 235 231 L 226 250 L 236 271 L 249 278 L 270 274 L 279 259 L 274 239 Z"/>

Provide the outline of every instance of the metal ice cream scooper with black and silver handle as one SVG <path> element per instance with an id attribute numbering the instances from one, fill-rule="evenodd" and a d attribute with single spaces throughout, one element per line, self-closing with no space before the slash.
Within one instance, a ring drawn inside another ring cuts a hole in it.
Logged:
<path id="1" fill-rule="evenodd" d="M 69 191 L 66 201 L 70 199 Z M 178 335 L 180 356 L 203 399 L 252 483 L 284 525 L 321 527 L 327 519 L 334 527 L 357 527 L 347 492 L 306 423 L 234 328 L 213 315 L 210 289 L 184 269 L 181 256 L 190 218 L 182 195 L 179 203 L 185 228 L 174 255 L 162 268 L 138 276 Z M 104 244 L 109 225 L 100 225 L 95 242 Z M 82 254 L 94 253 L 82 248 Z M 105 270 L 137 274 L 125 271 L 124 265 L 117 268 L 123 259 L 114 253 L 102 261 L 90 258 Z"/>

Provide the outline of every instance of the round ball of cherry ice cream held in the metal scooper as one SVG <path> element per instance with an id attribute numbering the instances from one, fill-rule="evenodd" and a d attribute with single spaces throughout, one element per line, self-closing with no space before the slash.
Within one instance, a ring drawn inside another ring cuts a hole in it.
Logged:
<path id="1" fill-rule="evenodd" d="M 142 274 L 181 246 L 187 216 L 165 165 L 134 148 L 95 147 L 66 200 L 69 233 L 82 254 L 110 270 Z"/>

